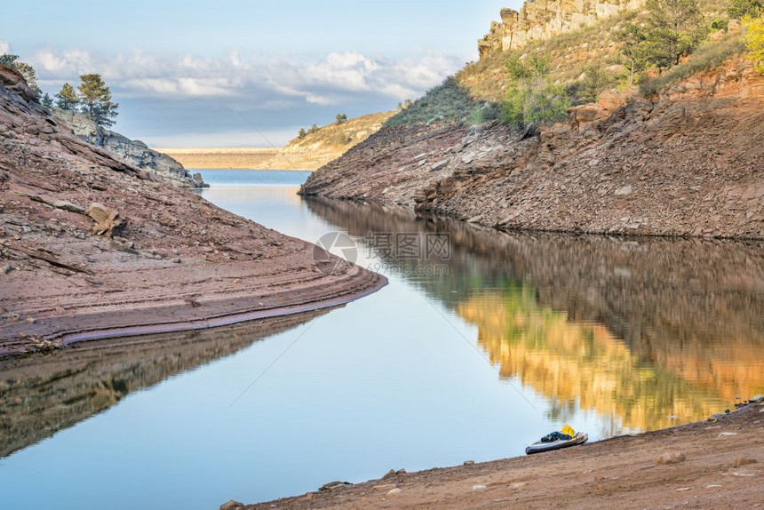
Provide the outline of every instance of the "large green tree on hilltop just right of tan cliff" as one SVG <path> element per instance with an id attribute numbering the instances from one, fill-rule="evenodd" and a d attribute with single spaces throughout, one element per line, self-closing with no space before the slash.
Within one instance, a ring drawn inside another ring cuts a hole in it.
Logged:
<path id="1" fill-rule="evenodd" d="M 670 68 L 691 53 L 705 36 L 696 0 L 648 0 L 645 58 L 658 68 Z"/>

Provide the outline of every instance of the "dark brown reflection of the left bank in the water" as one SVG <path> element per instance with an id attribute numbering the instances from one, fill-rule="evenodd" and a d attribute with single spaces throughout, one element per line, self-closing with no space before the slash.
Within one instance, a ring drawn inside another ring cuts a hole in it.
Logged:
<path id="1" fill-rule="evenodd" d="M 107 410 L 128 394 L 329 311 L 0 360 L 0 458 Z"/>

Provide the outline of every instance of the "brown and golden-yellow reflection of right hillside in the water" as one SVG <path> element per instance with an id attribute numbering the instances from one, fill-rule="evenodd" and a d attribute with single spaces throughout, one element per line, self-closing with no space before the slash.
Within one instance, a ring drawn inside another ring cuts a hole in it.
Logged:
<path id="1" fill-rule="evenodd" d="M 545 395 L 555 418 L 577 403 L 611 416 L 612 433 L 651 430 L 764 393 L 762 243 L 509 235 L 396 208 L 307 204 L 361 237 L 448 234 L 448 275 L 410 282 L 474 324 L 501 376 Z"/>

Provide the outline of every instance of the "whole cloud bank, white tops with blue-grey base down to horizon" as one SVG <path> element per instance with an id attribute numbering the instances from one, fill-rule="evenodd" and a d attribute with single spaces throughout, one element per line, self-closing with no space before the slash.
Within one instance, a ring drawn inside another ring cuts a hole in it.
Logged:
<path id="1" fill-rule="evenodd" d="M 64 82 L 78 84 L 86 73 L 103 76 L 120 104 L 115 129 L 126 136 L 167 145 L 205 145 L 208 139 L 211 146 L 260 144 L 247 141 L 252 125 L 283 143 L 300 126 L 329 124 L 338 112 L 391 109 L 441 83 L 464 61 L 438 53 L 397 60 L 362 52 L 209 58 L 80 49 L 47 49 L 29 60 L 49 93 Z"/>

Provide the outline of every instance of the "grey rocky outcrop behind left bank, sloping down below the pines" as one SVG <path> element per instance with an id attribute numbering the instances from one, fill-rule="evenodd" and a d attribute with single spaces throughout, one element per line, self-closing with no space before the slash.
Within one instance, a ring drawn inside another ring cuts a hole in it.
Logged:
<path id="1" fill-rule="evenodd" d="M 73 111 L 54 108 L 52 114 L 60 123 L 68 125 L 76 136 L 106 149 L 118 161 L 151 172 L 179 187 L 204 187 L 200 174 L 192 176 L 171 156 L 147 147 L 140 140 L 132 140 L 115 131 L 103 129 L 87 116 Z"/>

